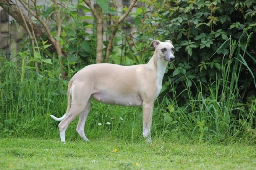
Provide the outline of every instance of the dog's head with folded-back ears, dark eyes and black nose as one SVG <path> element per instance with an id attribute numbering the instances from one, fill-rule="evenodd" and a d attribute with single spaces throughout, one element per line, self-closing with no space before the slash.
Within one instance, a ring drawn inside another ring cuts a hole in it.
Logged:
<path id="1" fill-rule="evenodd" d="M 160 42 L 158 40 L 152 41 L 150 47 L 154 47 L 160 59 L 164 59 L 168 62 L 173 62 L 175 60 L 174 52 L 175 48 L 170 40 L 165 42 Z"/>

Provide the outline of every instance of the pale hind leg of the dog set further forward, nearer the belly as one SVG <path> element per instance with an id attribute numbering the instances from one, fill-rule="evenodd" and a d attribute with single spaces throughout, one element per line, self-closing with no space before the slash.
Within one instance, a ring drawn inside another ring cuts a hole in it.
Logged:
<path id="1" fill-rule="evenodd" d="M 78 124 L 76 127 L 76 132 L 85 141 L 88 141 L 88 139 L 86 138 L 85 133 L 84 133 L 84 125 L 85 125 L 85 122 L 86 122 L 86 119 L 87 119 L 90 109 L 91 109 L 91 99 L 88 100 L 84 111 L 79 115 L 79 120 L 78 120 Z"/>

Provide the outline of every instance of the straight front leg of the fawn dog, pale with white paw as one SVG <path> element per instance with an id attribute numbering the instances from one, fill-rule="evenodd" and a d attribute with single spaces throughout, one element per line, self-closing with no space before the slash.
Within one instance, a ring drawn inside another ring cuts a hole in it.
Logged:
<path id="1" fill-rule="evenodd" d="M 151 124 L 154 103 L 143 103 L 143 137 L 151 142 Z"/>

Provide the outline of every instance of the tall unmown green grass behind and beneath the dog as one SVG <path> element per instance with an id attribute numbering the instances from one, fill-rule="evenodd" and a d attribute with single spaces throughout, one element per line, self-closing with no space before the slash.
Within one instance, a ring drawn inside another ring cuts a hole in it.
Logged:
<path id="1" fill-rule="evenodd" d="M 245 30 L 241 38 L 246 35 Z M 223 56 L 221 79 L 216 76 L 215 81 L 209 84 L 193 82 L 197 90 L 194 96 L 190 82 L 185 77 L 185 88 L 180 94 L 166 94 L 156 101 L 152 122 L 153 137 L 194 143 L 255 143 L 256 99 L 254 96 L 247 103 L 239 103 L 237 84 L 242 76 L 241 65 L 246 66 L 254 78 L 245 60 L 245 55 L 250 56 L 246 50 L 250 37 L 251 34 L 246 37 L 248 41 L 245 45 L 232 38 L 225 42 L 230 45 L 230 53 Z M 0 137 L 59 138 L 58 122 L 49 115 L 60 117 L 66 111 L 67 81 L 58 78 L 60 66 L 54 63 L 52 66 L 47 65 L 48 70 L 52 71 L 42 69 L 37 74 L 34 68 L 24 63 L 24 56 L 20 57 L 20 66 L 7 61 L 4 56 L 0 60 Z M 226 58 L 228 62 L 225 63 Z M 175 82 L 170 82 L 170 88 L 174 89 L 174 84 Z M 178 98 L 185 91 L 189 100 L 180 106 Z M 66 140 L 80 139 L 75 132 L 76 124 L 77 120 L 69 125 Z M 142 109 L 109 106 L 92 101 L 85 132 L 89 140 L 140 140 Z"/>

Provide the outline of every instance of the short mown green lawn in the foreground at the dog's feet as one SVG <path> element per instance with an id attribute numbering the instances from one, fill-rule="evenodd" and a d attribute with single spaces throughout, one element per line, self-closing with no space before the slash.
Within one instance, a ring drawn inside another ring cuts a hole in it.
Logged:
<path id="1" fill-rule="evenodd" d="M 117 152 L 114 150 L 117 149 Z M 99 138 L 60 140 L 0 138 L 0 169 L 248 169 L 255 146 L 173 143 L 154 138 L 129 142 Z"/>

